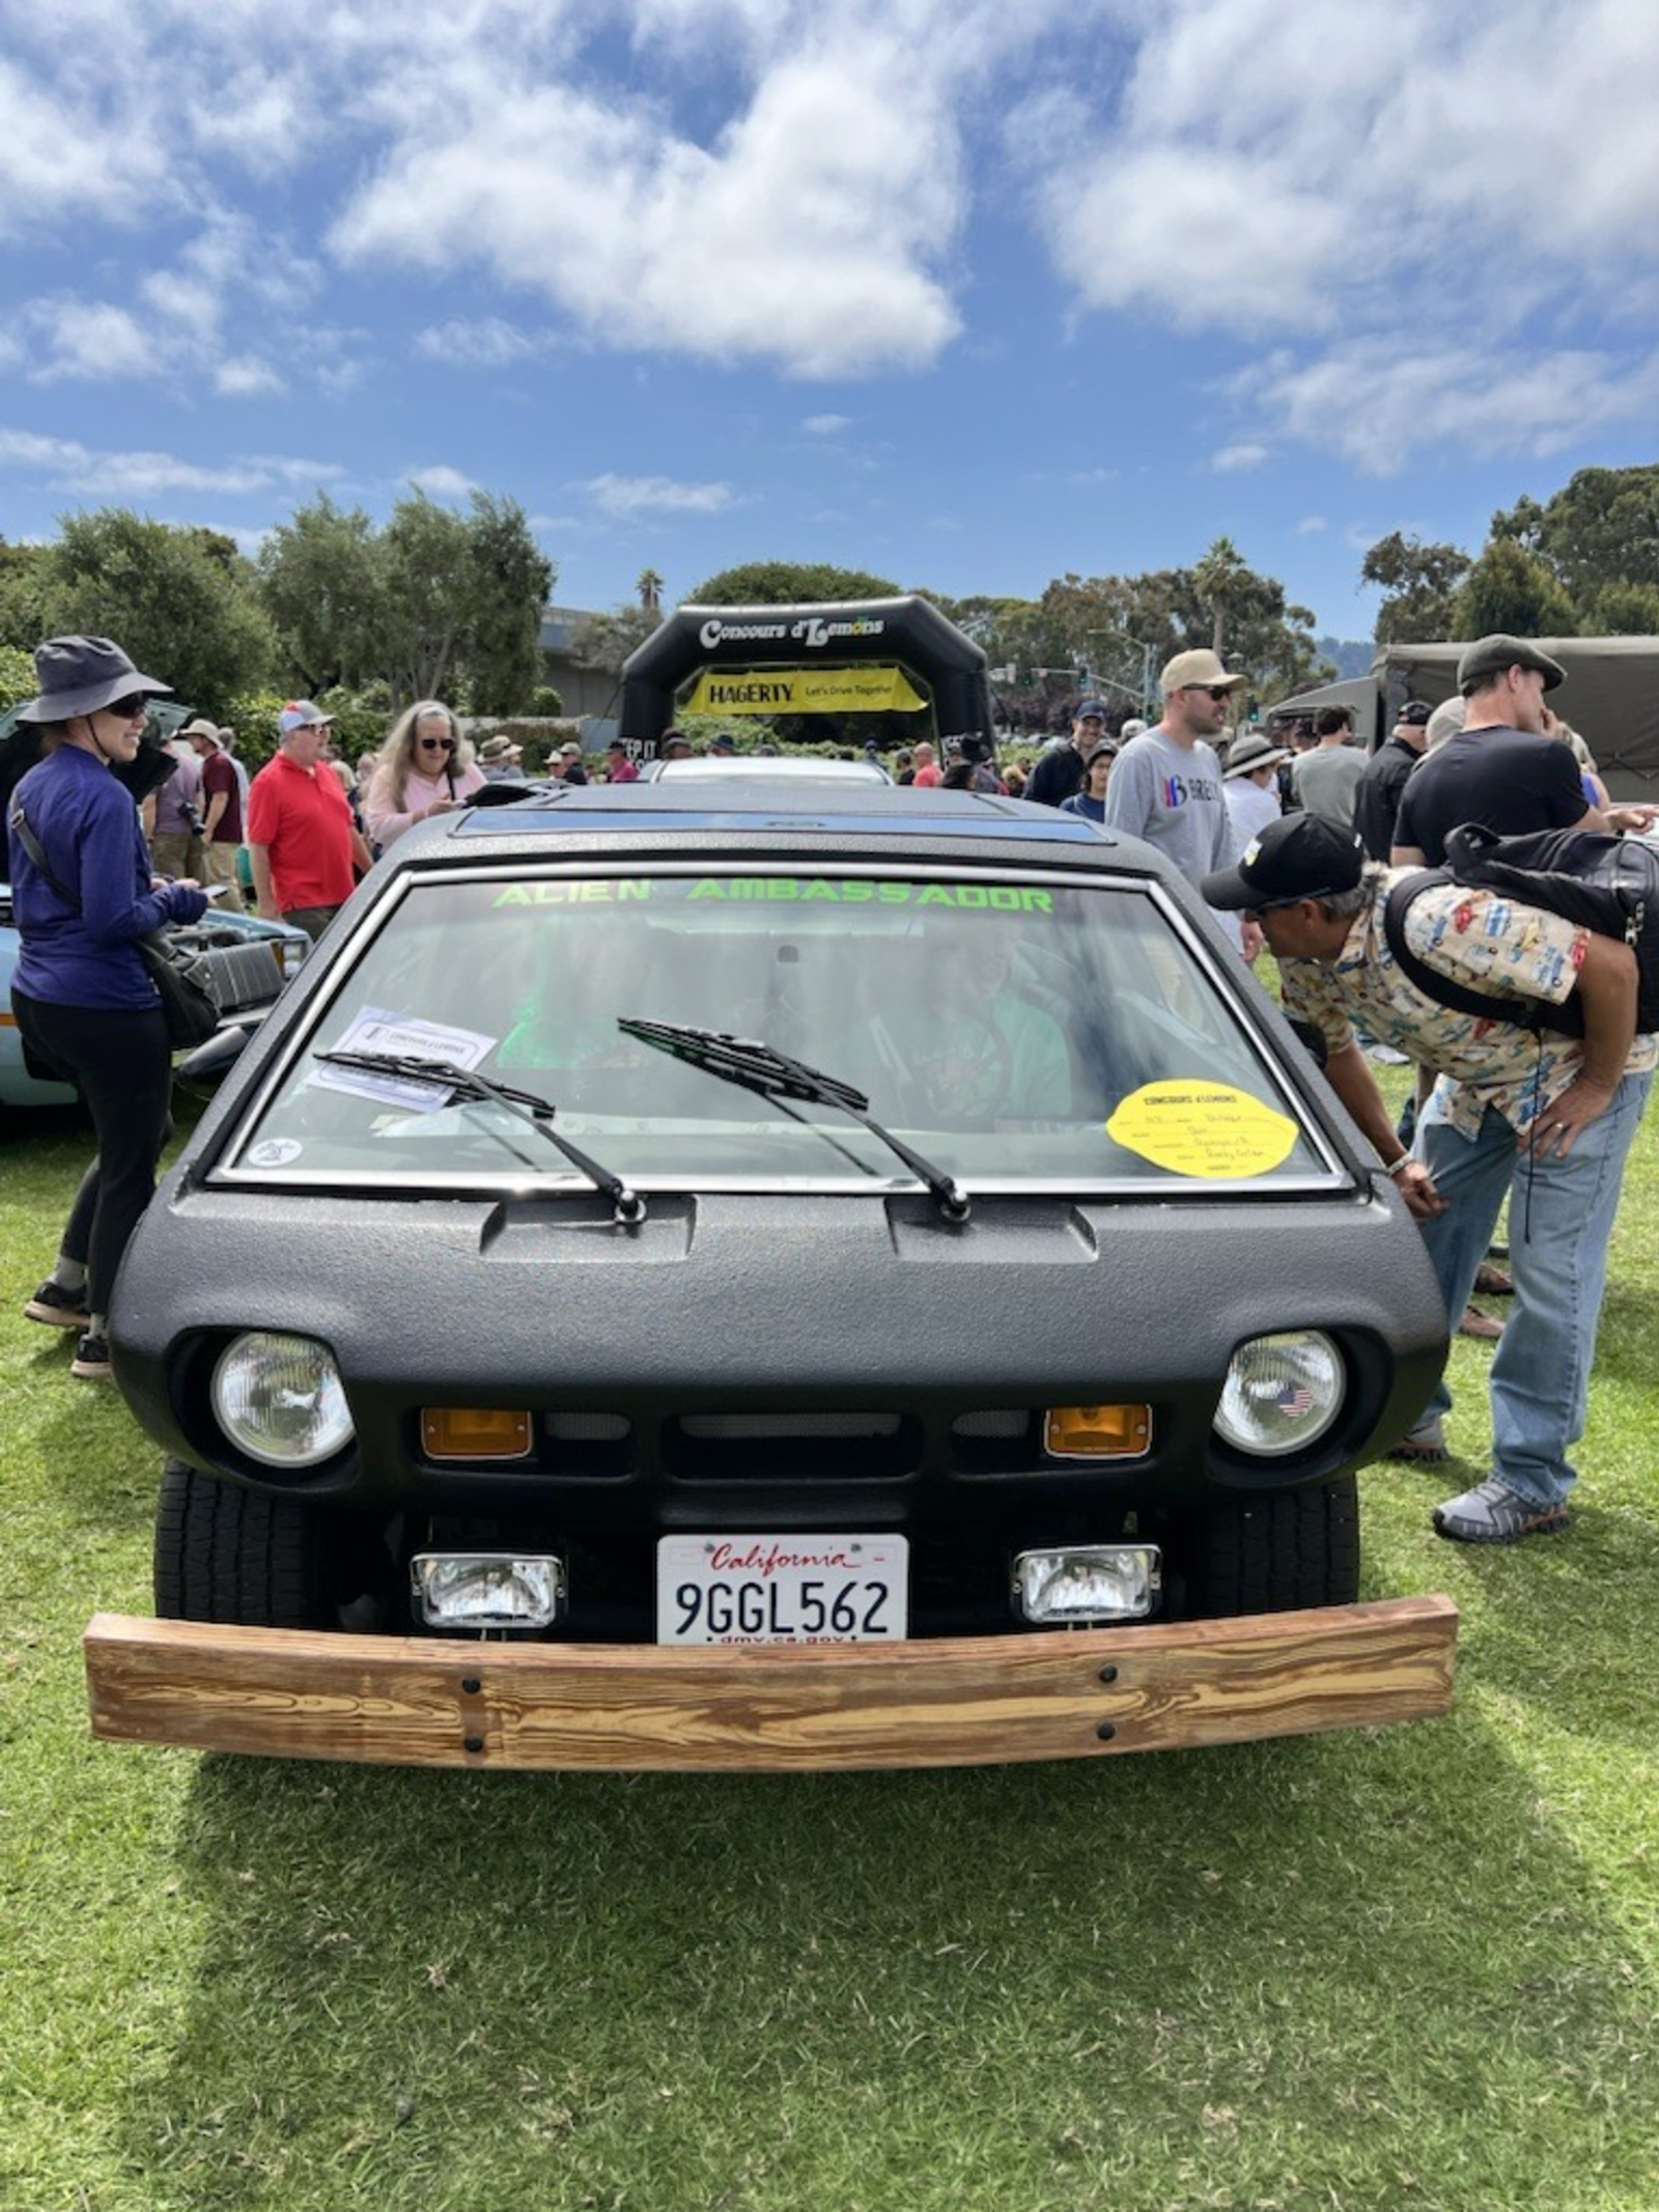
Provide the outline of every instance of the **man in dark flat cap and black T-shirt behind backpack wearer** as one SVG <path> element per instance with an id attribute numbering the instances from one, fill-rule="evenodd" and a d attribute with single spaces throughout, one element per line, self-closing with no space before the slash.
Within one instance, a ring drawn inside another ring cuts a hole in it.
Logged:
<path id="1" fill-rule="evenodd" d="M 1526 637 L 1482 637 L 1458 661 L 1462 730 L 1429 752 L 1400 794 L 1389 858 L 1440 867 L 1447 832 L 1646 830 L 1655 807 L 1586 805 L 1571 748 L 1548 737 L 1544 697 L 1566 670 Z"/>

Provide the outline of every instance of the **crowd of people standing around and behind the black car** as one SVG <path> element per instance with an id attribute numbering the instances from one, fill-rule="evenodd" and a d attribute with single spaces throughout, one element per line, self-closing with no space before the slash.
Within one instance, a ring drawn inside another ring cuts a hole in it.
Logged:
<path id="1" fill-rule="evenodd" d="M 137 945 L 241 898 L 321 936 L 374 856 L 414 825 L 524 774 L 500 732 L 478 757 L 438 699 L 407 708 L 356 765 L 334 752 L 334 719 L 310 699 L 276 717 L 276 750 L 248 779 L 234 734 L 206 719 L 173 741 L 173 774 L 135 810 L 108 774 L 139 750 L 168 686 L 104 637 L 60 637 L 35 653 L 40 695 L 20 721 L 42 759 L 13 794 L 11 885 L 22 951 L 13 1011 L 29 1062 L 75 1086 L 97 1157 L 60 1239 L 53 1274 L 24 1312 L 77 1332 L 71 1371 L 108 1374 L 108 1292 L 148 1203 L 168 1133 L 170 1051 Z M 1544 907 L 1433 885 L 1409 909 L 1407 945 L 1427 978 L 1502 995 L 1577 1000 L 1582 1035 L 1540 1037 L 1520 1018 L 1475 1018 L 1407 975 L 1385 933 L 1402 869 L 1440 863 L 1447 834 L 1482 823 L 1528 830 L 1650 830 L 1659 810 L 1615 807 L 1584 741 L 1548 706 L 1564 670 L 1517 637 L 1486 637 L 1458 666 L 1458 697 L 1407 701 L 1367 754 L 1352 717 L 1325 710 L 1285 741 L 1230 730 L 1245 679 L 1217 653 L 1175 655 L 1157 723 L 1108 726 L 1082 699 L 1068 737 L 1029 774 L 978 748 L 920 741 L 898 783 L 1011 792 L 1155 845 L 1254 960 L 1265 945 L 1285 1006 L 1325 1037 L 1325 1075 L 1418 1219 L 1449 1314 L 1486 1287 L 1513 1296 L 1491 1367 L 1493 1469 L 1436 1509 L 1460 1542 L 1506 1544 L 1566 1524 L 1586 1420 L 1606 1250 L 1624 1161 L 1652 1084 L 1659 1042 L 1635 1031 L 1635 956 Z M 710 752 L 737 752 L 730 734 Z M 692 752 L 668 730 L 661 759 Z M 874 752 L 874 748 L 872 748 Z M 540 770 L 566 783 L 635 783 L 622 741 L 588 757 L 566 741 Z M 1520 1009 L 1517 1009 L 1520 1013 Z M 1407 1121 L 1383 1104 L 1367 1048 L 1420 1071 Z M 1511 1267 L 1491 1239 L 1509 1203 Z M 1451 1458 L 1444 1383 L 1396 1458 Z"/>

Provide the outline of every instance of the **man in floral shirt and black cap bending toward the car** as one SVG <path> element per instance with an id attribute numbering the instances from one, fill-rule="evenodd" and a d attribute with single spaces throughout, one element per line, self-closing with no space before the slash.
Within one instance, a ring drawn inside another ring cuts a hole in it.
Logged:
<path id="1" fill-rule="evenodd" d="M 1436 1509 L 1440 1535 L 1513 1544 L 1566 1526 L 1584 1433 L 1595 1325 L 1630 1139 L 1659 1044 L 1635 1029 L 1637 962 L 1628 945 L 1542 907 L 1458 885 L 1409 907 L 1409 949 L 1451 982 L 1564 1004 L 1577 993 L 1584 1035 L 1458 1013 L 1427 998 L 1387 947 L 1383 914 L 1398 872 L 1365 863 L 1334 823 L 1290 814 L 1203 880 L 1212 907 L 1254 916 L 1281 964 L 1285 1006 L 1327 1044 L 1325 1073 L 1400 1183 L 1422 1225 L 1440 1294 L 1460 1314 L 1511 1199 L 1515 1310 L 1491 1367 L 1493 1473 Z M 1438 1075 L 1405 1152 L 1354 1042 L 1354 1022 Z M 1413 1458 L 1447 1455 L 1438 1385 Z"/>

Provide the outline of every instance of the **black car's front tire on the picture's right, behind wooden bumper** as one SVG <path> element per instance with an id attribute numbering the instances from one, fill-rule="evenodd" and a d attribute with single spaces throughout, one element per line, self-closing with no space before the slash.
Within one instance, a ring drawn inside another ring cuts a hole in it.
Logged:
<path id="1" fill-rule="evenodd" d="M 1352 1606 L 1358 1590 L 1354 1475 L 1272 1498 L 1228 1500 L 1203 1515 L 1188 1577 L 1188 1610 L 1197 1619 Z"/>

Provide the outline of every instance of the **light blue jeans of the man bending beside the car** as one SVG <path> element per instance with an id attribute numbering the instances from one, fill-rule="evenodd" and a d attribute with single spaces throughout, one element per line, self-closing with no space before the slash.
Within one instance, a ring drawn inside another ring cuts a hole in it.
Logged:
<path id="1" fill-rule="evenodd" d="M 1462 1137 L 1447 1121 L 1444 1084 L 1418 1117 L 1418 1159 L 1451 1201 L 1422 1223 L 1449 1314 L 1469 1303 L 1509 1194 L 1515 1301 L 1491 1363 L 1493 1473 L 1533 1506 L 1559 1504 L 1577 1482 L 1566 1453 L 1584 1436 L 1608 1239 L 1650 1086 L 1652 1073 L 1626 1075 L 1566 1159 L 1517 1152 L 1515 1130 L 1495 1108 L 1486 1108 L 1478 1137 Z M 1442 1378 L 1422 1418 L 1447 1411 Z"/>

